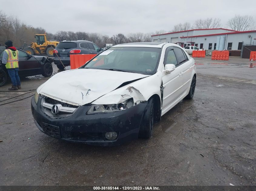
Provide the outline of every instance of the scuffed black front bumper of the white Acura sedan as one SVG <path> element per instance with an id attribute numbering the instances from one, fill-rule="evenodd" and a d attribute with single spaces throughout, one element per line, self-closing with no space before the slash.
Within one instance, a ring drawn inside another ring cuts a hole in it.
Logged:
<path id="1" fill-rule="evenodd" d="M 67 117 L 52 119 L 41 109 L 41 98 L 38 104 L 31 100 L 32 115 L 35 124 L 46 135 L 71 142 L 82 142 L 90 145 L 121 145 L 138 138 L 139 128 L 144 119 L 147 102 L 129 109 L 114 113 L 97 113 L 87 115 L 90 106 L 79 106 Z M 117 132 L 115 140 L 105 138 L 106 132 Z"/>

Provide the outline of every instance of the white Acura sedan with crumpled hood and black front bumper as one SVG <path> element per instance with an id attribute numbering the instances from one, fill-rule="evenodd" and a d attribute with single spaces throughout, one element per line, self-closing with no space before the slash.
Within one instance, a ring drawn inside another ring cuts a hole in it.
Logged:
<path id="1" fill-rule="evenodd" d="M 194 59 L 172 43 L 112 46 L 78 69 L 60 72 L 31 100 L 36 126 L 71 142 L 119 145 L 149 138 L 155 122 L 194 96 Z"/>

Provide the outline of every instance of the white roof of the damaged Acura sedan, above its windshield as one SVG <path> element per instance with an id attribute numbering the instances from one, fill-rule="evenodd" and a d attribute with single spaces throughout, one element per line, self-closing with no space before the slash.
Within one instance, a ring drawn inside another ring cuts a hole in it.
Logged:
<path id="1" fill-rule="evenodd" d="M 174 43 L 152 43 L 152 42 L 145 42 L 145 43 L 125 43 L 125 44 L 117 44 L 112 47 L 151 47 L 151 48 L 162 48 L 165 44 L 169 46 L 178 46 Z"/>

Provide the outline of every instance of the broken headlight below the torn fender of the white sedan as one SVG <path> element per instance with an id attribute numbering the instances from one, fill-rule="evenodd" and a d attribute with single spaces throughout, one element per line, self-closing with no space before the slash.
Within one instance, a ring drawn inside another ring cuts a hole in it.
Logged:
<path id="1" fill-rule="evenodd" d="M 134 103 L 132 99 L 126 100 L 122 103 L 117 104 L 106 104 L 106 105 L 95 105 L 92 104 L 87 114 L 95 114 L 95 113 L 111 113 L 121 110 L 126 110 L 140 102 Z"/>

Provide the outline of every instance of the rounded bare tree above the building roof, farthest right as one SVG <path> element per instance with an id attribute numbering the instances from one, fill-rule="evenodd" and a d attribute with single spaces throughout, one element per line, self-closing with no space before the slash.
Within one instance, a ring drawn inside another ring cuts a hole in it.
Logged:
<path id="1" fill-rule="evenodd" d="M 235 15 L 228 20 L 228 27 L 232 30 L 245 31 L 255 29 L 253 17 L 250 15 Z"/>

